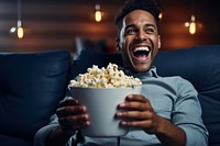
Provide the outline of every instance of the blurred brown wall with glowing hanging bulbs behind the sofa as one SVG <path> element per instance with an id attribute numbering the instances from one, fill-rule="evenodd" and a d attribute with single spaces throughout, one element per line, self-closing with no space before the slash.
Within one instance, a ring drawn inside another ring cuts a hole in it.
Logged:
<path id="1" fill-rule="evenodd" d="M 124 1 L 0 0 L 0 52 L 74 53 L 85 44 L 96 52 L 116 52 L 114 15 Z M 219 0 L 155 1 L 163 10 L 162 49 L 220 44 Z"/>

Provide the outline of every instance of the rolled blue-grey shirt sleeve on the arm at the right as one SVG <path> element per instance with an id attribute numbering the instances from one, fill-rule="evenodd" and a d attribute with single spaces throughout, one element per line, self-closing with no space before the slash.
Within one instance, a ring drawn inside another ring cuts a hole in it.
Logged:
<path id="1" fill-rule="evenodd" d="M 198 92 L 194 86 L 178 78 L 177 99 L 173 112 L 173 123 L 186 133 L 186 146 L 207 146 L 208 131 L 201 119 Z"/>

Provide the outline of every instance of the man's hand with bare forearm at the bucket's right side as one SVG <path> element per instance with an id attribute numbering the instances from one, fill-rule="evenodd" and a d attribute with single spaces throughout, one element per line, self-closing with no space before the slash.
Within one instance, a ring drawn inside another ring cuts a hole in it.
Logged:
<path id="1" fill-rule="evenodd" d="M 120 103 L 116 116 L 121 119 L 121 126 L 136 127 L 147 134 L 155 134 L 166 146 L 184 146 L 185 132 L 157 115 L 150 101 L 141 94 L 130 94 Z"/>

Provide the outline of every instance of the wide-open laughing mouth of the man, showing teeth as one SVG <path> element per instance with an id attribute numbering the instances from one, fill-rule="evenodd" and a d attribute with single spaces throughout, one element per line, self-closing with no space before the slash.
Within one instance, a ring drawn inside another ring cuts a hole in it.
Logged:
<path id="1" fill-rule="evenodd" d="M 146 46 L 135 47 L 135 49 L 133 50 L 133 55 L 138 59 L 146 59 L 148 54 L 150 54 L 150 48 Z"/>

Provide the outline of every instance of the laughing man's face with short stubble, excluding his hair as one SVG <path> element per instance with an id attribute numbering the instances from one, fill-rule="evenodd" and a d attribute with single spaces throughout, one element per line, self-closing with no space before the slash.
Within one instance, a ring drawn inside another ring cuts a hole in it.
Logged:
<path id="1" fill-rule="evenodd" d="M 123 19 L 117 42 L 124 67 L 134 72 L 147 71 L 161 48 L 161 38 L 154 16 L 143 10 L 134 10 Z"/>

